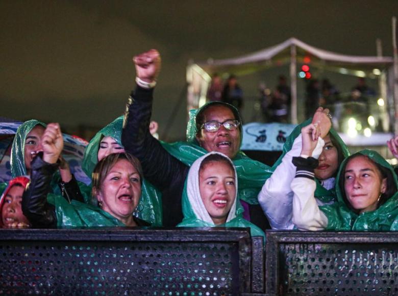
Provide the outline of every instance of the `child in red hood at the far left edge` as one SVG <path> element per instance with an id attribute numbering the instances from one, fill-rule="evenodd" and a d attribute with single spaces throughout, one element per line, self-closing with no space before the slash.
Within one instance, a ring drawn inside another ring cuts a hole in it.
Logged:
<path id="1" fill-rule="evenodd" d="M 29 179 L 17 177 L 8 183 L 8 187 L 0 198 L 0 227 L 29 227 L 29 220 L 23 215 L 21 209 L 22 194 L 29 183 Z"/>

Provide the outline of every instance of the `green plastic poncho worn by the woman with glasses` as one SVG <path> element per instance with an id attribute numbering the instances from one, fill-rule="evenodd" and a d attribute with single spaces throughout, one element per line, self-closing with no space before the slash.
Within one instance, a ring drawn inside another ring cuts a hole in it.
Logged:
<path id="1" fill-rule="evenodd" d="M 209 104 L 219 104 L 220 102 L 213 102 Z M 232 105 L 230 107 L 236 109 Z M 202 107 L 203 108 L 203 107 Z M 184 164 L 191 166 L 192 163 L 199 157 L 208 153 L 205 149 L 198 145 L 196 141 L 196 124 L 195 118 L 198 111 L 201 109 L 194 109 L 189 112 L 189 122 L 187 126 L 187 142 L 165 143 L 161 142 L 162 146 L 168 153 L 176 157 Z M 238 111 L 236 111 L 238 114 Z M 240 119 L 240 118 L 239 118 Z M 241 122 L 241 120 L 240 120 Z M 240 129 L 240 142 L 242 142 L 242 126 Z M 248 204 L 258 205 L 257 195 L 262 186 L 271 174 L 272 171 L 269 166 L 247 157 L 243 152 L 239 151 L 232 162 L 235 165 L 238 175 L 239 189 L 238 198 Z"/>

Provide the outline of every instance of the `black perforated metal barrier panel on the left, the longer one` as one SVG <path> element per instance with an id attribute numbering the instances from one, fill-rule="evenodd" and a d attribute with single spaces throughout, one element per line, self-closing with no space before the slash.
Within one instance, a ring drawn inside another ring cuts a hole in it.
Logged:
<path id="1" fill-rule="evenodd" d="M 263 240 L 249 229 L 0 229 L 0 241 L 0 294 L 264 290 Z"/>

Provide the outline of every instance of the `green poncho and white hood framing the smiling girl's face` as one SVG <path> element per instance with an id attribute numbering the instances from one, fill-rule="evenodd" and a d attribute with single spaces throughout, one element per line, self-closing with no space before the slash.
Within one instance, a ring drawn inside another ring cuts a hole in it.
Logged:
<path id="1" fill-rule="evenodd" d="M 228 161 L 231 161 L 225 155 L 218 152 L 210 152 L 194 161 L 189 169 L 187 179 L 185 180 L 184 191 L 182 196 L 182 207 L 184 219 L 177 225 L 177 227 L 248 227 L 250 228 L 252 236 L 262 236 L 265 239 L 264 232 L 245 220 L 242 217 L 243 208 L 240 203 L 237 203 L 237 194 L 235 193 L 234 202 L 231 206 L 231 210 L 228 213 L 226 223 L 221 225 L 215 225 L 207 212 L 205 205 L 203 204 L 201 193 L 199 190 L 199 169 L 202 161 L 212 154 L 218 154 L 225 157 Z M 236 170 L 235 178 L 236 177 Z M 235 183 L 238 188 L 238 182 Z"/>

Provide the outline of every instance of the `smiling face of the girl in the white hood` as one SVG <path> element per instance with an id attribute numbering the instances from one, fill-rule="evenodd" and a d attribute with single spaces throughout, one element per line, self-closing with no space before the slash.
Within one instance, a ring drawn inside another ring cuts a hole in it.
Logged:
<path id="1" fill-rule="evenodd" d="M 203 204 L 214 224 L 223 224 L 235 200 L 235 172 L 222 161 L 209 162 L 199 172 Z"/>

